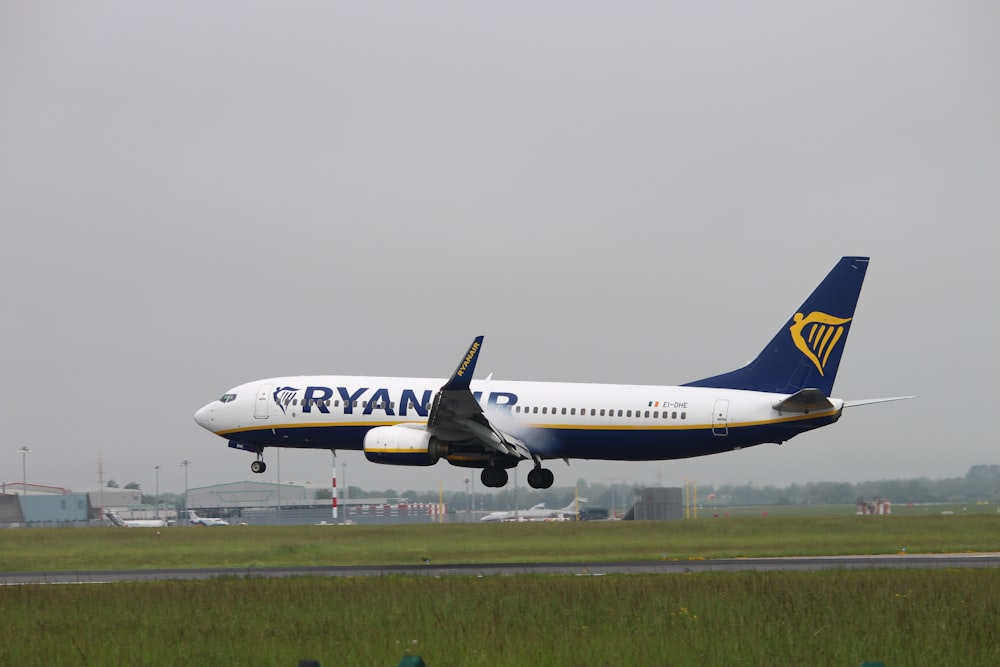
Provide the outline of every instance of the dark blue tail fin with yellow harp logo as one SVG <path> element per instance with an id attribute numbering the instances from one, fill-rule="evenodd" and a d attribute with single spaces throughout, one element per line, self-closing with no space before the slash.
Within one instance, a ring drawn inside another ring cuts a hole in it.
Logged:
<path id="1" fill-rule="evenodd" d="M 778 394 L 819 389 L 829 396 L 867 269 L 867 257 L 841 258 L 756 359 L 684 386 Z"/>

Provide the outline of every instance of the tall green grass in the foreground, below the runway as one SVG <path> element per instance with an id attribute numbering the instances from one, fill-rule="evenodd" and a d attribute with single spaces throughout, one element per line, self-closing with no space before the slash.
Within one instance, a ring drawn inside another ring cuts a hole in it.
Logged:
<path id="1" fill-rule="evenodd" d="M 1000 664 L 1000 571 L 0 588 L 4 665 Z"/>

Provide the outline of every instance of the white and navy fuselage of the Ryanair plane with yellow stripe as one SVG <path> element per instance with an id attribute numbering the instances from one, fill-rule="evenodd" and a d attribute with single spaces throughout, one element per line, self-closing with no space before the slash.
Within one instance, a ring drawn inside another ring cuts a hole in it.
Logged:
<path id="1" fill-rule="evenodd" d="M 426 424 L 444 380 L 297 376 L 240 385 L 195 415 L 246 449 L 361 449 L 378 426 Z M 835 421 L 843 401 L 806 414 L 774 406 L 784 394 L 703 387 L 473 381 L 498 427 L 542 458 L 659 460 L 788 438 Z"/>

